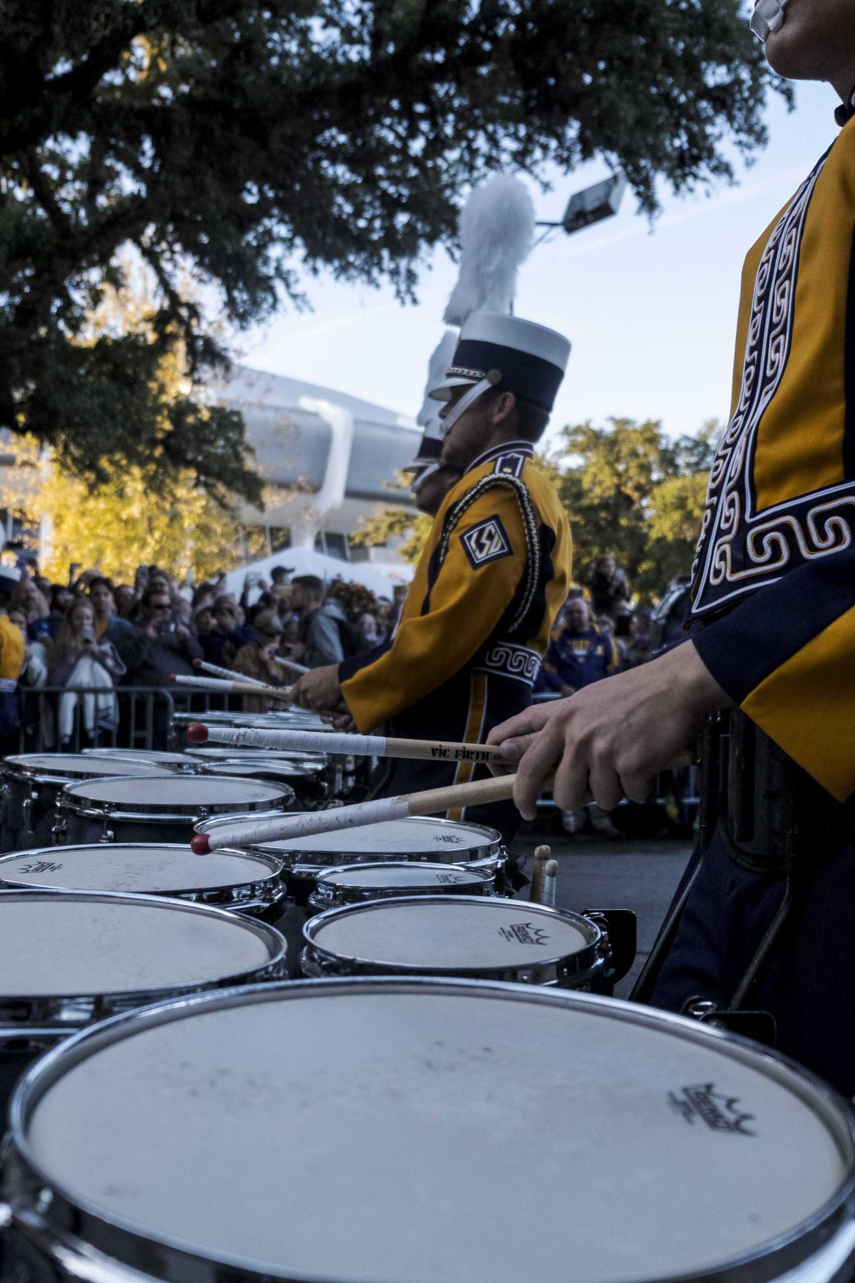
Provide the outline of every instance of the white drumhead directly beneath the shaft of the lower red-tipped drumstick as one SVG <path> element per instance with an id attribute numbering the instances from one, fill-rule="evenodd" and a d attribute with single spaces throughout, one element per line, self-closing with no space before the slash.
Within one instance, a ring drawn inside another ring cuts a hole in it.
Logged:
<path id="1" fill-rule="evenodd" d="M 367 856 L 410 856 L 426 854 L 429 860 L 460 862 L 469 860 L 467 852 L 498 843 L 494 829 L 479 828 L 472 824 L 458 824 L 454 820 L 384 820 L 381 824 L 365 824 L 358 829 L 340 829 L 334 833 L 316 833 L 308 838 L 289 838 L 282 842 L 266 842 L 264 849 L 293 851 L 300 856 L 312 852 L 332 854 Z"/>

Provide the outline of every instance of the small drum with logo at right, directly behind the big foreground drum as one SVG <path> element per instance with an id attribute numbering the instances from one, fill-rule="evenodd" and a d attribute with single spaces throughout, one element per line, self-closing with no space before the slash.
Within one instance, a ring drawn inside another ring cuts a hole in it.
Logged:
<path id="1" fill-rule="evenodd" d="M 303 926 L 303 975 L 445 975 L 596 992 L 609 937 L 565 908 L 496 896 L 416 896 L 330 908 Z"/>

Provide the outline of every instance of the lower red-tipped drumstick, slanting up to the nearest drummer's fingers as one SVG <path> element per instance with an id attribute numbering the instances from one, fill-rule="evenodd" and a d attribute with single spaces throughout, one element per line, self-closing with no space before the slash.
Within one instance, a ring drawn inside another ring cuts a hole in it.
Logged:
<path id="1" fill-rule="evenodd" d="M 303 811 L 295 815 L 277 815 L 268 820 L 235 820 L 217 825 L 213 833 L 198 833 L 190 843 L 198 856 L 207 856 L 222 847 L 255 845 L 264 842 L 286 842 L 309 838 L 315 833 L 334 833 L 363 824 L 384 820 L 406 820 L 413 815 L 442 815 L 456 807 L 489 806 L 507 802 L 514 794 L 514 776 L 496 775 L 470 784 L 449 784 L 444 789 L 426 789 L 424 793 L 402 793 L 394 798 L 357 802 L 356 806 L 335 807 L 330 811 Z"/>

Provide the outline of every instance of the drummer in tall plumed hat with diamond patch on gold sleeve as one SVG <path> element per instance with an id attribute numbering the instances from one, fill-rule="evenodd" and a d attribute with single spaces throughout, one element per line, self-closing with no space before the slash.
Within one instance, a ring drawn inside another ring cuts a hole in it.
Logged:
<path id="1" fill-rule="evenodd" d="M 440 462 L 462 477 L 434 520 L 395 634 L 306 674 L 298 704 L 347 712 L 363 734 L 385 725 L 389 735 L 469 743 L 529 706 L 570 582 L 567 516 L 533 463 L 569 354 L 562 335 L 519 317 L 481 312 L 463 325 L 453 363 L 431 389 L 445 402 Z M 487 774 L 472 762 L 389 761 L 374 795 Z M 519 825 L 510 803 L 467 808 L 466 819 L 506 840 Z"/>

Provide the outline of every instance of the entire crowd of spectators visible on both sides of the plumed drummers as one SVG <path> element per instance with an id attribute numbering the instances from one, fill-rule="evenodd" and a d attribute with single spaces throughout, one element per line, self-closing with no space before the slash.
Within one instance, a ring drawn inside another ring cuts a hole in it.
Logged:
<path id="1" fill-rule="evenodd" d="M 270 581 L 248 574 L 240 594 L 226 591 L 223 575 L 196 585 L 186 579 L 178 582 L 159 566 L 140 566 L 132 584 L 80 566 L 71 567 L 67 584 L 53 584 L 26 566 L 10 574 L 19 577 L 10 591 L 0 591 L 6 616 L 0 650 L 9 659 L 0 668 L 5 674 L 8 667 L 17 677 L 3 684 L 4 752 L 27 743 L 26 709 L 32 701 L 22 694 L 28 690 L 53 693 L 50 702 L 37 704 L 40 747 L 62 748 L 72 739 L 98 744 L 116 735 L 122 688 L 168 686 L 173 675 L 195 674 L 195 659 L 236 676 L 289 685 L 293 665 L 336 663 L 383 644 L 406 595 L 403 588 L 376 598 L 359 584 L 291 577 L 288 566 L 275 567 Z M 635 608 L 630 584 L 615 559 L 601 557 L 582 574 L 556 621 L 535 692 L 570 695 L 646 663 L 652 654 L 651 616 L 650 609 Z M 10 647 L 6 626 L 23 639 L 23 659 L 15 649 L 19 642 Z M 14 707 L 23 712 L 23 738 Z M 266 695 L 249 697 L 243 707 L 259 712 L 272 702 Z M 162 743 L 164 709 L 162 703 L 154 713 L 154 738 Z M 567 819 L 570 828 L 573 822 Z"/>

